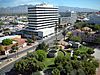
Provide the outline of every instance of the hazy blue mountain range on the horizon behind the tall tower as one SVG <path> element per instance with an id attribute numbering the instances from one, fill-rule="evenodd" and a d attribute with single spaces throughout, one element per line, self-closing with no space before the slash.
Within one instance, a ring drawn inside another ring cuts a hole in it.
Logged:
<path id="1" fill-rule="evenodd" d="M 7 7 L 7 8 L 0 8 L 0 14 L 24 14 L 28 13 L 28 6 L 30 5 L 20 5 L 16 7 Z M 88 9 L 88 8 L 79 8 L 79 7 L 67 7 L 67 6 L 59 6 L 59 12 L 66 12 L 66 11 L 76 11 L 76 12 L 95 12 L 98 10 Z"/>

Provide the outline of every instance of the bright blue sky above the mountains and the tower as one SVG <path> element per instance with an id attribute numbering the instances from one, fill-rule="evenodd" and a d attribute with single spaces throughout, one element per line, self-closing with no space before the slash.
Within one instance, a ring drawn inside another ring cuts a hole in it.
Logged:
<path id="1" fill-rule="evenodd" d="M 100 10 L 100 0 L 0 0 L 0 7 L 13 7 L 26 4 L 35 5 L 39 3 Z"/>

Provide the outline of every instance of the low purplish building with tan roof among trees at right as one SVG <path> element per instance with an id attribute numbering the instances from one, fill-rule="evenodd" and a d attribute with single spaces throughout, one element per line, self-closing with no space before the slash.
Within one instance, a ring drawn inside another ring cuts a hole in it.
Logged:
<path id="1" fill-rule="evenodd" d="M 93 42 L 96 37 L 100 36 L 100 32 L 94 32 L 92 29 L 85 27 L 86 30 L 76 29 L 72 31 L 73 36 L 80 36 L 84 42 Z"/>

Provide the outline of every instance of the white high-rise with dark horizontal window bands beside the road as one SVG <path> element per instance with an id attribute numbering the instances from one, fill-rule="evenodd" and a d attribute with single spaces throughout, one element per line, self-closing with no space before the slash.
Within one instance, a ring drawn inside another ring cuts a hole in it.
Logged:
<path id="1" fill-rule="evenodd" d="M 58 8 L 47 4 L 38 4 L 28 8 L 28 27 L 24 30 L 26 37 L 42 39 L 55 32 L 58 22 Z"/>

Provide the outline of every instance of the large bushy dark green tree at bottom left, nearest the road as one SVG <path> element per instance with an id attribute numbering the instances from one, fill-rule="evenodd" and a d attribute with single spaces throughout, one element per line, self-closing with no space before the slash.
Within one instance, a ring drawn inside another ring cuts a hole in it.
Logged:
<path id="1" fill-rule="evenodd" d="M 14 65 L 15 71 L 21 74 L 30 75 L 32 72 L 42 71 L 45 65 L 37 61 L 35 58 L 22 59 Z"/>

